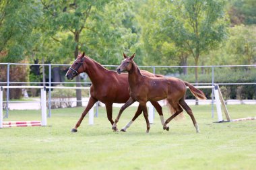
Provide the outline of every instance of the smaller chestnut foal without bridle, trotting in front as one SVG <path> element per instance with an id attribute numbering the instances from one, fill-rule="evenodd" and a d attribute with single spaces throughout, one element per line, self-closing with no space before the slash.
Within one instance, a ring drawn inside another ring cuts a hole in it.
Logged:
<path id="1" fill-rule="evenodd" d="M 121 110 L 119 111 L 119 114 L 115 120 L 115 123 L 113 124 L 113 129 L 117 127 L 117 122 L 119 121 L 119 118 L 125 110 L 125 108 L 129 107 L 132 103 L 135 101 L 139 102 L 139 105 L 141 107 L 141 110 L 143 110 L 143 116 L 146 119 L 147 123 L 147 131 L 150 130 L 150 123 L 148 121 L 148 110 L 146 107 L 147 101 L 158 101 L 162 99 L 167 99 L 170 109 L 174 109 L 174 114 L 170 116 L 164 123 L 164 130 L 167 128 L 167 124 L 178 114 L 183 112 L 183 109 L 186 110 L 187 114 L 191 117 L 193 124 L 195 126 L 196 132 L 199 132 L 199 127 L 197 125 L 197 122 L 193 116 L 191 108 L 189 108 L 189 105 L 185 102 L 185 93 L 187 91 L 187 86 L 189 87 L 190 91 L 197 97 L 198 99 L 206 99 L 204 93 L 200 91 L 199 89 L 196 89 L 191 85 L 190 83 L 186 81 L 182 81 L 181 79 L 177 79 L 174 77 L 170 78 L 164 78 L 164 77 L 147 77 L 141 75 L 141 71 L 139 71 L 139 68 L 133 61 L 133 58 L 135 54 L 133 54 L 130 58 L 127 57 L 125 54 L 123 54 L 124 60 L 121 62 L 121 65 L 117 68 L 117 73 L 121 72 L 128 72 L 128 81 L 129 81 L 129 90 L 130 90 L 130 98 L 125 103 L 125 105 L 122 106 Z M 182 109 L 182 108 L 183 109 Z M 141 114 L 137 112 L 135 116 L 139 116 L 138 114 Z M 129 126 L 133 123 L 133 120 L 131 120 L 125 128 L 123 128 L 121 131 L 125 131 Z"/>

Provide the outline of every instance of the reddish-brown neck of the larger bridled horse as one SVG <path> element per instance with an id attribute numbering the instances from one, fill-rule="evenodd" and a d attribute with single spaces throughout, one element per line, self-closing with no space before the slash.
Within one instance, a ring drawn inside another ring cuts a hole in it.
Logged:
<path id="1" fill-rule="evenodd" d="M 101 85 L 102 81 L 106 79 L 106 69 L 102 67 L 98 62 L 92 60 L 91 58 L 86 58 L 86 70 L 88 77 L 92 81 L 93 85 Z"/>

